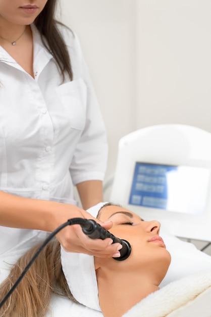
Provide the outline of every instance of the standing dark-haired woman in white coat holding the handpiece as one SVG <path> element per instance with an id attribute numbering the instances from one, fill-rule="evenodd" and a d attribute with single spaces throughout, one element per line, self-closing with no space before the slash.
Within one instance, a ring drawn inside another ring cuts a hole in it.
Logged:
<path id="1" fill-rule="evenodd" d="M 92 218 L 75 206 L 73 184 L 84 209 L 102 201 L 104 125 L 78 39 L 55 22 L 56 3 L 0 1 L 2 263 L 69 218 Z M 119 244 L 74 227 L 58 233 L 65 250 L 118 256 Z"/>

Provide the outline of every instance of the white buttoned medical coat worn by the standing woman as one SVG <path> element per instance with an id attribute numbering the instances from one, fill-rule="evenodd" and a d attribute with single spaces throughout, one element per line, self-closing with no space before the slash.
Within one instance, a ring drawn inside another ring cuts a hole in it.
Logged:
<path id="1" fill-rule="evenodd" d="M 76 204 L 73 184 L 104 177 L 104 124 L 77 36 L 61 27 L 74 75 L 63 83 L 39 32 L 31 28 L 35 79 L 0 46 L 0 189 Z M 0 261 L 45 236 L 0 227 Z"/>

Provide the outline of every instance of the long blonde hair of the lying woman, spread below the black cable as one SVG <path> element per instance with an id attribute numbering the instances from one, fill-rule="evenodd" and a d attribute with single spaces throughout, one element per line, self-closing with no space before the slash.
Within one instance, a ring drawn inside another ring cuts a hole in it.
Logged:
<path id="1" fill-rule="evenodd" d="M 30 249 L 12 267 L 8 278 L 0 286 L 1 299 L 6 296 L 40 246 L 41 244 Z M 52 294 L 77 302 L 70 292 L 62 270 L 58 240 L 43 248 L 23 280 L 0 309 L 0 316 L 44 317 Z"/>

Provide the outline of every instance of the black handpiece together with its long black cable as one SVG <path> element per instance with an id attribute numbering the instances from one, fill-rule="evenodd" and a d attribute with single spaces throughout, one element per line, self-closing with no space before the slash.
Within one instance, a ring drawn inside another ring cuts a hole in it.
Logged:
<path id="1" fill-rule="evenodd" d="M 3 298 L 3 300 L 0 302 L 0 308 L 5 304 L 5 302 L 8 300 L 8 298 L 11 296 L 11 294 L 14 292 L 18 284 L 21 282 L 23 279 L 24 275 L 30 268 L 30 266 L 33 264 L 33 262 L 36 260 L 40 252 L 43 250 L 43 248 L 48 244 L 48 242 L 54 237 L 60 230 L 62 230 L 64 227 L 68 225 L 73 225 L 73 224 L 79 224 L 82 227 L 82 231 L 88 235 L 91 239 L 102 239 L 104 240 L 107 237 L 110 237 L 113 240 L 113 243 L 120 243 L 122 244 L 122 249 L 120 250 L 120 257 L 119 258 L 114 258 L 117 261 L 122 261 L 125 260 L 129 257 L 131 253 L 131 246 L 129 242 L 126 240 L 121 240 L 114 236 L 112 233 L 109 231 L 105 230 L 103 227 L 101 227 L 96 221 L 92 219 L 83 219 L 83 218 L 73 218 L 69 219 L 67 222 L 63 223 L 61 226 L 59 226 L 55 231 L 51 232 L 47 239 L 43 242 L 43 244 L 37 249 L 36 253 L 34 256 L 31 258 L 27 266 L 24 268 L 22 271 L 21 275 L 17 279 L 17 281 L 14 283 L 10 291 L 6 294 L 6 296 Z"/>

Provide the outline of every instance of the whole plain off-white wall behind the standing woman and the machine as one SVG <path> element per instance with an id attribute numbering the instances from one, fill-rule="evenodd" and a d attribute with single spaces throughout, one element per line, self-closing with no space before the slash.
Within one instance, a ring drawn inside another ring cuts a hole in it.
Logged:
<path id="1" fill-rule="evenodd" d="M 211 132 L 210 0 L 61 0 L 79 36 L 109 139 L 161 123 Z"/>

